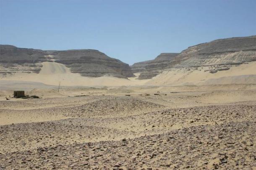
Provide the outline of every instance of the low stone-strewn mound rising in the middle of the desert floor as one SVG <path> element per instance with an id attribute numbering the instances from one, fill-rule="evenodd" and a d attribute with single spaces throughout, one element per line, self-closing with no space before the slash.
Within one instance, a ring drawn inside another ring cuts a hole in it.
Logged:
<path id="1" fill-rule="evenodd" d="M 130 97 L 108 97 L 78 107 L 63 110 L 66 117 L 127 116 L 142 114 L 164 106 Z"/>

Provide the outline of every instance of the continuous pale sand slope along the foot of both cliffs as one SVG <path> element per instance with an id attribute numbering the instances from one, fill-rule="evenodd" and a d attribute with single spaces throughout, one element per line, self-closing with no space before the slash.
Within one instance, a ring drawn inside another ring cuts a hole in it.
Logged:
<path id="1" fill-rule="evenodd" d="M 0 77 L 0 81 L 31 81 L 57 86 L 169 86 L 169 85 L 209 85 L 209 84 L 256 84 L 256 61 L 239 66 L 232 66 L 229 70 L 209 73 L 209 66 L 198 68 L 173 68 L 163 71 L 152 79 L 138 80 L 139 75 L 129 79 L 112 76 L 84 77 L 71 73 L 63 64 L 43 62 L 39 74 L 16 73 Z M 3 83 L 1 83 L 3 84 Z M 40 85 L 41 86 L 41 85 Z M 3 88 L 2 88 L 3 89 Z"/>

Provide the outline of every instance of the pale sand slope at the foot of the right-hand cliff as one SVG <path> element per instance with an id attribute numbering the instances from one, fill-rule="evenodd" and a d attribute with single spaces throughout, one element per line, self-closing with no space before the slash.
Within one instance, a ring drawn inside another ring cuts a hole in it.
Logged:
<path id="1" fill-rule="evenodd" d="M 229 70 L 209 73 L 209 67 L 174 68 L 157 75 L 147 85 L 182 85 L 182 84 L 256 84 L 256 61 Z M 244 75 L 250 75 L 243 77 Z M 232 76 L 232 77 L 230 77 Z M 226 77 L 226 78 L 223 78 Z M 221 78 L 221 79 L 219 79 Z M 210 81 L 207 81 L 211 79 Z"/>

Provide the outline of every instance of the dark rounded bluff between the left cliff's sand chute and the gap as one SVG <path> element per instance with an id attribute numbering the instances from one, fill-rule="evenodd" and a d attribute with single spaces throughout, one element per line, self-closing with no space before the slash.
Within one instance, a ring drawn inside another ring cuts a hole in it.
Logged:
<path id="1" fill-rule="evenodd" d="M 72 56 L 72 57 L 70 57 Z M 73 73 L 80 73 L 82 76 L 115 76 L 132 77 L 133 73 L 128 64 L 110 58 L 97 50 L 68 50 L 59 51 L 54 55 L 55 62 L 63 63 Z"/>

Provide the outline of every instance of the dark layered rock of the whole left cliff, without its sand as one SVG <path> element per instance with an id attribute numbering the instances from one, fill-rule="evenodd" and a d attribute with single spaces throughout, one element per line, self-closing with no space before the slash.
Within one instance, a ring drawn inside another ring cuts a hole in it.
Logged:
<path id="1" fill-rule="evenodd" d="M 49 61 L 65 64 L 71 72 L 81 76 L 134 76 L 128 64 L 97 50 L 43 51 L 0 45 L 0 61 L 1 74 L 39 73 L 41 63 Z"/>

